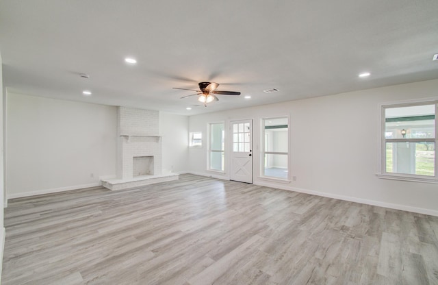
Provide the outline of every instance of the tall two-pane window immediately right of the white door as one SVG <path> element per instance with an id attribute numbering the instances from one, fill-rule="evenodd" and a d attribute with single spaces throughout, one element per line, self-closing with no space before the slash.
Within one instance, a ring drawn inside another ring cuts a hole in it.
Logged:
<path id="1" fill-rule="evenodd" d="M 263 168 L 265 177 L 288 179 L 289 127 L 287 117 L 262 119 Z"/>

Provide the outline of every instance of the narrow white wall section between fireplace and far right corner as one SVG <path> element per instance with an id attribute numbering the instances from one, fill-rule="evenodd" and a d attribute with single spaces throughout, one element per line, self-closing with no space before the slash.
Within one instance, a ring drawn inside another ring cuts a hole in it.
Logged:
<path id="1" fill-rule="evenodd" d="M 163 173 L 185 173 L 188 169 L 188 116 L 159 112 L 162 135 Z"/>

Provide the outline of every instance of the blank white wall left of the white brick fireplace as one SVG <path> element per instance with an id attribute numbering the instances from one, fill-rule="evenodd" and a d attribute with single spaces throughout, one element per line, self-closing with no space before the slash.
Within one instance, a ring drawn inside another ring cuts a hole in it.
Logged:
<path id="1" fill-rule="evenodd" d="M 6 196 L 99 185 L 116 175 L 116 107 L 20 95 L 6 101 Z"/>

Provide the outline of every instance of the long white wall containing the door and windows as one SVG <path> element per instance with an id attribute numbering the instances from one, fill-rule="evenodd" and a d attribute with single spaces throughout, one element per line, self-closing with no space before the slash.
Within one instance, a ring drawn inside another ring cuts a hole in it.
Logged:
<path id="1" fill-rule="evenodd" d="M 255 108 L 190 116 L 189 132 L 207 134 L 209 121 L 253 119 L 254 183 L 326 197 L 359 201 L 438 216 L 438 186 L 376 177 L 379 153 L 379 104 L 438 96 L 438 79 Z M 296 181 L 281 184 L 259 177 L 260 119 L 290 116 L 289 172 Z M 229 149 L 229 142 L 227 147 Z M 190 149 L 190 170 L 207 169 L 205 149 Z M 229 157 L 226 155 L 226 165 Z M 223 178 L 229 179 L 226 173 Z"/>

